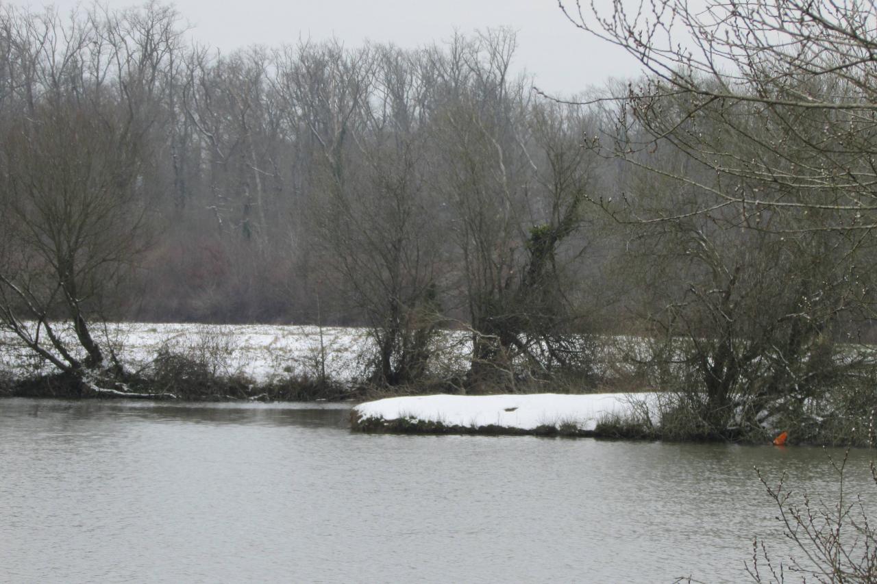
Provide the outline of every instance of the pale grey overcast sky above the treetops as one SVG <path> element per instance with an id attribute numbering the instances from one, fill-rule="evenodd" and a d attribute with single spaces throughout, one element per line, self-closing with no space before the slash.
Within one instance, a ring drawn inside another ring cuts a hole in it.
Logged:
<path id="1" fill-rule="evenodd" d="M 610 5 L 608 0 L 595 0 Z M 39 8 L 46 3 L 14 1 Z M 75 0 L 53 3 L 62 11 Z M 81 3 L 88 5 L 89 3 Z M 142 4 L 107 0 L 113 8 Z M 518 33 L 515 59 L 546 91 L 570 93 L 602 85 L 610 76 L 636 75 L 638 68 L 614 46 L 591 38 L 564 18 L 557 0 L 177 0 L 183 18 L 193 26 L 193 39 L 224 52 L 241 46 L 277 46 L 300 36 L 347 45 L 365 39 L 413 47 L 449 38 L 454 28 L 473 32 L 510 26 Z"/>

